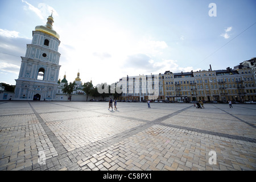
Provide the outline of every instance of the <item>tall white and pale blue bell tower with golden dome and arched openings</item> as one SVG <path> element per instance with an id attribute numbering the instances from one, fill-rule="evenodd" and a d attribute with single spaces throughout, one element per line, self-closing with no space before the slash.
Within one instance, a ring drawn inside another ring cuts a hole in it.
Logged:
<path id="1" fill-rule="evenodd" d="M 52 28 L 53 17 L 32 31 L 32 43 L 21 57 L 16 79 L 15 100 L 55 100 L 60 71 L 59 34 Z"/>

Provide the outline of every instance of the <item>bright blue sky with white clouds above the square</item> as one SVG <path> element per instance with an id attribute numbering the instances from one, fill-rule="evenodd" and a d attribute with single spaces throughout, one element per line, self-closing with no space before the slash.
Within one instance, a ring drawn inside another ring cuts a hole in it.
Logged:
<path id="1" fill-rule="evenodd" d="M 32 31 L 52 10 L 59 78 L 66 73 L 68 82 L 77 72 L 96 86 L 209 64 L 233 68 L 256 57 L 255 0 L 1 0 L 0 82 L 16 84 Z"/>

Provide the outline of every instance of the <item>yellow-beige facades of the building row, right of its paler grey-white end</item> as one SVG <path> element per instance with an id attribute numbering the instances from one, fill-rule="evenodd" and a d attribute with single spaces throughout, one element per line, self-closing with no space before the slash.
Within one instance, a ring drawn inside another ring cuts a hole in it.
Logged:
<path id="1" fill-rule="evenodd" d="M 197 71 L 161 75 L 164 96 L 169 101 L 238 101 L 256 100 L 256 87 L 251 68 Z"/>

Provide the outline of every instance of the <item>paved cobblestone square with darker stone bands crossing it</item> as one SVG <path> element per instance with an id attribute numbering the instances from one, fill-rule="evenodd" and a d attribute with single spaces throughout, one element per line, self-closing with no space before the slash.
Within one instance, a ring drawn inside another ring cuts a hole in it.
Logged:
<path id="1" fill-rule="evenodd" d="M 0 101 L 0 170 L 255 170 L 256 105 Z"/>

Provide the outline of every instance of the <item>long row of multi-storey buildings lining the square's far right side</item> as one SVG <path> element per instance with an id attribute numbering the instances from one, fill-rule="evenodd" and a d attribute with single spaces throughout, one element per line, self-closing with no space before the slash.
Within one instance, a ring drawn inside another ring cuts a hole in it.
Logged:
<path id="1" fill-rule="evenodd" d="M 120 99 L 184 102 L 256 100 L 255 61 L 256 58 L 243 61 L 234 69 L 212 71 L 210 67 L 208 71 L 185 73 L 166 71 L 159 75 L 123 77 L 119 80 L 123 85 Z"/>

